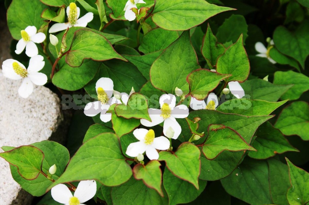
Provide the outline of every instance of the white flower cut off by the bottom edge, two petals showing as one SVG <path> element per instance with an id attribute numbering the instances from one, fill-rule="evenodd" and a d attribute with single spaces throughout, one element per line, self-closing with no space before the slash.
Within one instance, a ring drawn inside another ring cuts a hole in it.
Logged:
<path id="1" fill-rule="evenodd" d="M 95 180 L 86 180 L 79 182 L 74 196 L 69 188 L 64 184 L 58 184 L 51 190 L 55 201 L 66 205 L 84 205 L 83 203 L 92 199 L 96 193 Z"/>

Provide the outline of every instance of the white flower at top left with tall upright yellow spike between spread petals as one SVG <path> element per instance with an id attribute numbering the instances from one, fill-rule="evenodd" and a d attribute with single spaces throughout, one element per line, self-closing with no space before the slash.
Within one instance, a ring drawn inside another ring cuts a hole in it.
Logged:
<path id="1" fill-rule="evenodd" d="M 92 12 L 88 12 L 83 17 L 78 19 L 80 15 L 80 9 L 73 2 L 70 3 L 70 6 L 66 8 L 66 15 L 68 16 L 67 23 L 55 23 L 54 25 L 52 25 L 52 27 L 50 27 L 48 32 L 55 33 L 58 31 L 66 30 L 67 28 L 71 28 L 73 26 L 86 27 L 87 23 L 89 23 L 93 19 Z"/>

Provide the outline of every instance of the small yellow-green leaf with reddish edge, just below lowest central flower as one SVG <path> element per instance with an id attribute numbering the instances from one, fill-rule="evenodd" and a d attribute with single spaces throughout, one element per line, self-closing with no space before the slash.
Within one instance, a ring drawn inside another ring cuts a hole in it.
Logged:
<path id="1" fill-rule="evenodd" d="M 145 165 L 136 164 L 133 168 L 133 176 L 135 179 L 142 179 L 144 184 L 152 189 L 155 189 L 162 197 L 164 197 L 161 189 L 162 171 L 158 160 L 151 160 Z"/>

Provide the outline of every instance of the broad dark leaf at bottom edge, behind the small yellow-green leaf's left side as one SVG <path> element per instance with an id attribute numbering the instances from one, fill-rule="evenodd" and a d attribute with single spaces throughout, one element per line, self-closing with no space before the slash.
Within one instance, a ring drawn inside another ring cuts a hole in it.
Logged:
<path id="1" fill-rule="evenodd" d="M 122 184 L 112 188 L 112 202 L 125 205 L 167 205 L 167 196 L 161 197 L 154 189 L 148 188 L 141 180 L 133 177 Z"/>

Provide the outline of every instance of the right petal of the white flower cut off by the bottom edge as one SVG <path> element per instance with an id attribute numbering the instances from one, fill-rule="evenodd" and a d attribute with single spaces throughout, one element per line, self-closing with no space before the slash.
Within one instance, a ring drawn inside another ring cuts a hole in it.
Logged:
<path id="1" fill-rule="evenodd" d="M 86 180 L 79 182 L 74 196 L 78 198 L 80 203 L 84 203 L 92 197 L 95 196 L 96 193 L 96 182 L 95 180 Z"/>

